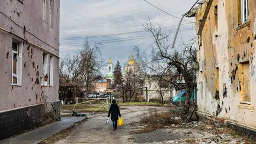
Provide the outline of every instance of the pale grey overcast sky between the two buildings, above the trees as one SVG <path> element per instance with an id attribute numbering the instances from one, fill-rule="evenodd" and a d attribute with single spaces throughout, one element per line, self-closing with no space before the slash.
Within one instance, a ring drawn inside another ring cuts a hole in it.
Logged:
<path id="1" fill-rule="evenodd" d="M 169 14 L 181 17 L 196 0 L 148 0 L 148 2 Z M 61 0 L 60 56 L 81 49 L 84 37 L 88 37 L 91 43 L 100 41 L 104 44 L 101 52 L 106 62 L 111 57 L 114 64 L 119 60 L 123 65 L 130 56 L 133 46 L 146 50 L 152 43 L 149 33 L 140 32 L 144 30 L 142 24 L 148 22 L 148 17 L 151 18 L 152 23 L 162 27 L 177 25 L 180 21 L 143 0 Z M 185 18 L 185 20 L 194 21 L 194 18 Z M 189 22 L 183 21 L 183 24 L 185 23 Z M 175 32 L 175 28 L 177 27 L 164 30 Z M 193 28 L 194 24 L 182 25 L 181 34 L 184 41 L 194 35 Z M 127 34 L 127 32 L 132 33 Z M 171 40 L 173 36 L 174 34 L 171 34 Z M 178 40 L 180 37 L 179 34 Z M 150 49 L 146 52 L 148 51 Z"/>

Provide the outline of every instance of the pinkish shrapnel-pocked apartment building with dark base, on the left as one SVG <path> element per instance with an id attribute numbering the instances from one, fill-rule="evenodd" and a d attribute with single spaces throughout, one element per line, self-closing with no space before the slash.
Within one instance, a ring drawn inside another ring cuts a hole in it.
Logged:
<path id="1" fill-rule="evenodd" d="M 60 120 L 59 5 L 0 2 L 0 139 Z"/>

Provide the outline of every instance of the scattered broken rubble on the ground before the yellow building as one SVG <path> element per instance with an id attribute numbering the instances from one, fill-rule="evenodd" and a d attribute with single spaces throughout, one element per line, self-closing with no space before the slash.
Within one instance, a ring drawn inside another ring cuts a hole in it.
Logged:
<path id="1" fill-rule="evenodd" d="M 134 126 L 133 129 L 145 129 L 148 125 Z M 171 124 L 159 129 L 170 135 L 180 135 L 178 139 L 164 140 L 163 142 L 152 142 L 153 144 L 167 143 L 248 143 L 244 137 L 237 135 L 233 130 L 223 127 L 215 127 L 201 121 L 191 121 L 190 123 Z"/>

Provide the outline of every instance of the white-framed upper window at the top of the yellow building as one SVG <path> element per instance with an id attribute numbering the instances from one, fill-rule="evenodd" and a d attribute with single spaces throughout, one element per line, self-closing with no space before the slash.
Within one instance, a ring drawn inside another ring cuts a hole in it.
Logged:
<path id="1" fill-rule="evenodd" d="M 238 23 L 245 23 L 249 19 L 248 0 L 238 0 Z"/>

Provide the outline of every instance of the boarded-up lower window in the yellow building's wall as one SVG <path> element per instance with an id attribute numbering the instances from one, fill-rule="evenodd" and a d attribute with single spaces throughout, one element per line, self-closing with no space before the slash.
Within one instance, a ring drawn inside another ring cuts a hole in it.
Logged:
<path id="1" fill-rule="evenodd" d="M 250 97 L 250 78 L 249 78 L 249 62 L 239 64 L 239 80 L 240 80 L 240 98 L 241 102 L 251 102 Z"/>

